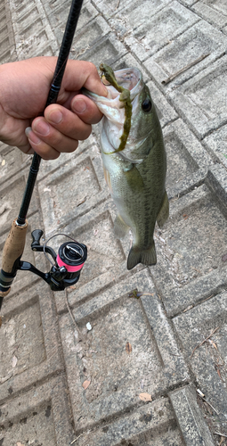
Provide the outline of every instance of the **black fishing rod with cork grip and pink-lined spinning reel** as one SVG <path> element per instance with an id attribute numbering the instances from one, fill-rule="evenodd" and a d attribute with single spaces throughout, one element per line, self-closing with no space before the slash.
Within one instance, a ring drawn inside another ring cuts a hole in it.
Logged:
<path id="1" fill-rule="evenodd" d="M 69 58 L 69 51 L 72 45 L 73 37 L 77 28 L 77 21 L 81 11 L 83 0 L 72 0 L 69 10 L 69 17 L 62 38 L 60 53 L 57 59 L 56 67 L 53 74 L 53 82 L 45 103 L 45 108 L 51 103 L 56 103 L 61 88 L 61 81 L 64 75 L 66 64 Z M 53 261 L 48 258 L 52 264 L 52 268 L 48 273 L 43 273 L 34 267 L 28 261 L 20 260 L 24 251 L 26 232 L 28 221 L 26 219 L 28 207 L 36 183 L 36 176 L 40 166 L 41 157 L 35 153 L 30 166 L 28 181 L 20 206 L 20 212 L 17 219 L 12 222 L 10 233 L 4 244 L 2 269 L 0 271 L 0 309 L 4 297 L 10 293 L 13 279 L 16 277 L 17 271 L 31 271 L 50 285 L 53 291 L 64 290 L 67 286 L 77 283 L 81 269 L 86 260 L 87 250 L 85 244 L 79 244 L 76 240 L 65 235 L 70 242 L 61 244 L 58 254 L 53 248 L 47 246 L 47 243 L 57 235 L 53 235 L 44 245 L 40 244 L 43 231 L 36 229 L 32 232 L 31 249 L 33 251 L 48 253 Z M 58 234 L 62 235 L 62 234 Z M 63 234 L 64 235 L 64 234 Z"/>

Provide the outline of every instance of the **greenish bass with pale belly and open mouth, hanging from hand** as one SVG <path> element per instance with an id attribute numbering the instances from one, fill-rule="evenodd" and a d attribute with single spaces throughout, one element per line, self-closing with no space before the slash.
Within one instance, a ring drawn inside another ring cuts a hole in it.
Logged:
<path id="1" fill-rule="evenodd" d="M 101 64 L 107 97 L 83 93 L 103 113 L 101 159 L 104 177 L 118 209 L 117 238 L 129 230 L 133 244 L 127 269 L 157 263 L 156 222 L 163 227 L 169 215 L 166 194 L 166 150 L 158 114 L 149 88 L 137 68 L 113 70 Z"/>

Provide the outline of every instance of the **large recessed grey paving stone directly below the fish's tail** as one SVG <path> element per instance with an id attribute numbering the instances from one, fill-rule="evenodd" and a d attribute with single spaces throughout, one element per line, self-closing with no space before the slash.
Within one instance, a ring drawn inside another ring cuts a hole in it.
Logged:
<path id="1" fill-rule="evenodd" d="M 148 295 L 141 301 L 130 299 L 128 293 L 134 287 L 145 294 L 149 290 Z M 61 316 L 60 326 L 76 431 L 133 409 L 142 392 L 155 398 L 189 379 L 146 271 L 115 285 L 111 293 L 99 293 L 98 299 L 78 307 L 74 315 L 82 343 L 69 314 Z M 86 329 L 87 322 L 91 331 Z M 126 343 L 132 345 L 131 353 Z M 86 390 L 85 380 L 91 381 Z"/>

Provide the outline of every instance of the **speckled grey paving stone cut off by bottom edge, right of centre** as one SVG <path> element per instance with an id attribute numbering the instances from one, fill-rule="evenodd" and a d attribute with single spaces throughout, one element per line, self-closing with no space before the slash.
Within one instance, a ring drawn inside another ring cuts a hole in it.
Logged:
<path id="1" fill-rule="evenodd" d="M 134 409 L 134 413 L 76 438 L 79 446 L 185 445 L 175 423 L 173 409 L 166 398 Z"/>

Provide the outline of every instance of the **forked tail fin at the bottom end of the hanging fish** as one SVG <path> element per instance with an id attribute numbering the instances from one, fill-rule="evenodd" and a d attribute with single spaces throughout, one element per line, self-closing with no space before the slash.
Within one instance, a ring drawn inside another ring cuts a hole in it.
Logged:
<path id="1" fill-rule="evenodd" d="M 138 263 L 147 266 L 156 265 L 157 258 L 154 242 L 150 248 L 146 250 L 140 249 L 137 246 L 132 246 L 127 258 L 127 269 L 134 268 Z"/>

